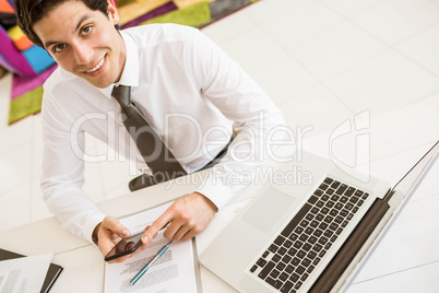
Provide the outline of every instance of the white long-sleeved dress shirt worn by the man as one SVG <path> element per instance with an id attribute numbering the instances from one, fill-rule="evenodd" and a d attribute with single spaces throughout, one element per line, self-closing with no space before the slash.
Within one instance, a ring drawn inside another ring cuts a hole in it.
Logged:
<path id="1" fill-rule="evenodd" d="M 284 124 L 281 112 L 235 61 L 195 28 L 151 24 L 121 35 L 127 59 L 118 84 L 131 86 L 132 102 L 188 173 L 215 157 L 233 128 L 240 131 L 215 172 L 194 190 L 223 208 L 249 184 L 236 184 L 236 176 L 232 180 L 227 175 L 247 176 L 270 161 L 259 145 Z M 114 86 L 97 89 L 61 68 L 44 85 L 44 199 L 67 230 L 88 241 L 105 214 L 82 189 L 84 161 L 103 157 L 84 152 L 84 132 L 147 172 L 121 121 L 120 106 L 110 96 Z M 105 160 L 114 157 L 107 154 Z"/>

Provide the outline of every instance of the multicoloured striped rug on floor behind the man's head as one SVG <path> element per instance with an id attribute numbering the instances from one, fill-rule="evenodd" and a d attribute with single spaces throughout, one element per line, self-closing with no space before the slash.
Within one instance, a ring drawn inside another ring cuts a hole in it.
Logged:
<path id="1" fill-rule="evenodd" d="M 178 23 L 202 28 L 259 0 L 118 0 L 122 28 L 147 23 Z M 34 79 L 13 77 L 9 124 L 40 112 L 43 83 L 56 66 Z"/>

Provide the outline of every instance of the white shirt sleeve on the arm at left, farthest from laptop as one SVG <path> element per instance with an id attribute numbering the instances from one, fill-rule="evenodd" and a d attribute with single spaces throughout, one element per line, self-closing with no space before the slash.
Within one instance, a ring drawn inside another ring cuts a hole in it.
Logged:
<path id="1" fill-rule="evenodd" d="M 103 214 L 83 190 L 84 132 L 72 128 L 70 115 L 45 90 L 43 103 L 44 161 L 41 189 L 51 213 L 72 234 L 92 242 Z M 72 138 L 76 137 L 76 138 Z M 74 143 L 73 143 L 74 142 Z"/>

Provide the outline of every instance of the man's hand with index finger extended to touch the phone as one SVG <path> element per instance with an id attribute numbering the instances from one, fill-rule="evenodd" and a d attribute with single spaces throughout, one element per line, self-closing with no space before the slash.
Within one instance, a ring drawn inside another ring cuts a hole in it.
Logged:
<path id="1" fill-rule="evenodd" d="M 164 232 L 166 238 L 188 241 L 207 227 L 216 211 L 216 206 L 198 192 L 177 199 L 146 228 L 142 236 L 143 245 L 140 248 L 147 247 L 158 231 L 168 224 Z"/>

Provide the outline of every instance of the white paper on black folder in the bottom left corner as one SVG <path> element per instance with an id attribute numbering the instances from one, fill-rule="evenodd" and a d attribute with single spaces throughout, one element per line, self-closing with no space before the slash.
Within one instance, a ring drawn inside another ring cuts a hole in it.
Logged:
<path id="1" fill-rule="evenodd" d="M 0 292 L 39 292 L 52 256 L 46 254 L 0 261 Z"/>

